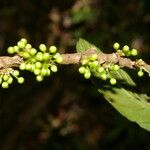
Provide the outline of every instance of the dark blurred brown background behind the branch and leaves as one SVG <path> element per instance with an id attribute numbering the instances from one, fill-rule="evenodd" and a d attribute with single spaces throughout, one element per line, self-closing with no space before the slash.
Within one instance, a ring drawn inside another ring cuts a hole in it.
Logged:
<path id="1" fill-rule="evenodd" d="M 0 55 L 22 37 L 72 53 L 83 37 L 106 53 L 127 44 L 150 63 L 149 27 L 149 0 L 0 0 Z M 149 93 L 147 76 L 131 75 Z M 114 110 L 78 66 L 60 66 L 42 83 L 23 76 L 23 85 L 0 88 L 1 150 L 150 149 L 150 133 Z"/>

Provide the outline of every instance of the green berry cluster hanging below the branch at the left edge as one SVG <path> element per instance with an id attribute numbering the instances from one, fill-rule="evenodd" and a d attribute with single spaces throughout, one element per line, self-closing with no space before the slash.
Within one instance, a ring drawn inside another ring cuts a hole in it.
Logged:
<path id="1" fill-rule="evenodd" d="M 3 69 L 0 72 L 0 84 L 2 88 L 8 88 L 13 83 L 14 78 L 17 79 L 19 84 L 24 82 L 23 77 L 19 77 L 19 71 L 12 68 Z"/>

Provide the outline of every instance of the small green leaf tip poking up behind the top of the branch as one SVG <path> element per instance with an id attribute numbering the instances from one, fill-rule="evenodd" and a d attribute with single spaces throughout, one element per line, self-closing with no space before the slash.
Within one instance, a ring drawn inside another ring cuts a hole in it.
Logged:
<path id="1" fill-rule="evenodd" d="M 77 52 L 84 52 L 90 48 L 94 48 L 96 51 L 100 52 L 100 49 L 97 48 L 95 45 L 91 44 L 90 42 L 80 38 L 76 44 Z"/>

